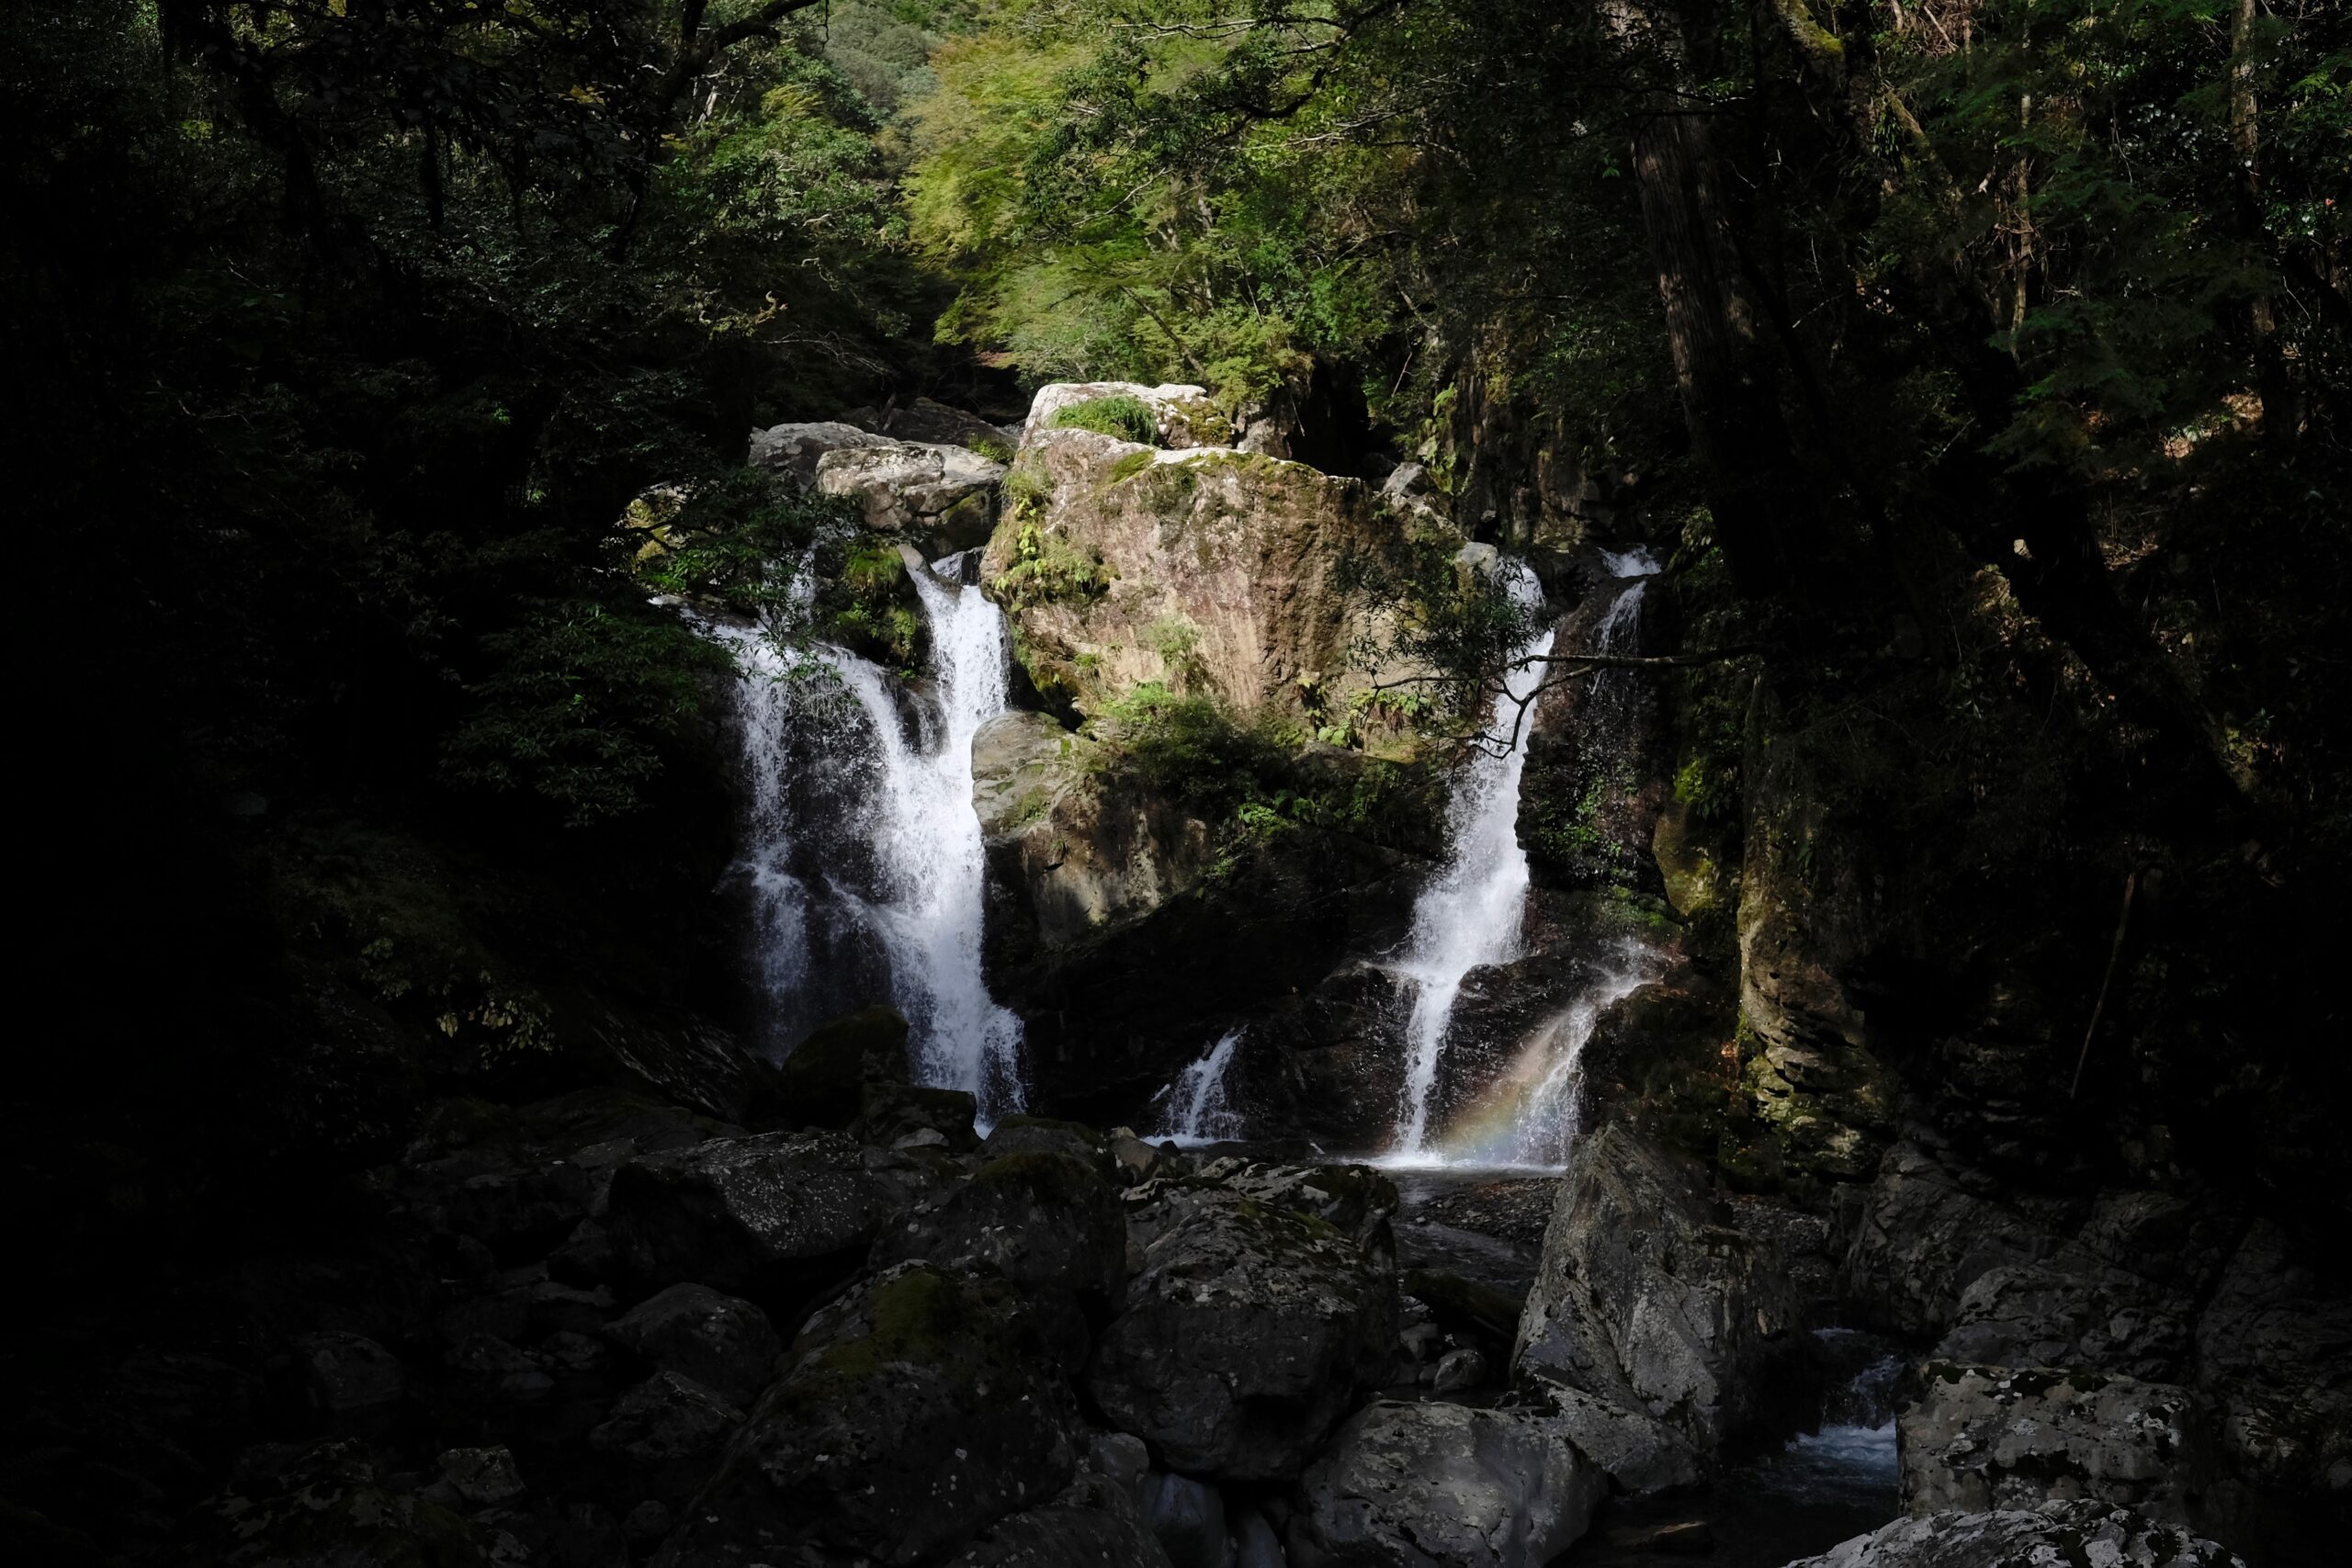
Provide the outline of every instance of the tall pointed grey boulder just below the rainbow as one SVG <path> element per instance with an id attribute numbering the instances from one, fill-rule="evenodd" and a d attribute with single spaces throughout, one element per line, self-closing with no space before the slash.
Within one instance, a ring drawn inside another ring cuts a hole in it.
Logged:
<path id="1" fill-rule="evenodd" d="M 1578 1138 L 1517 1371 L 1644 1410 L 1705 1455 L 1764 1425 L 1799 1302 L 1778 1251 L 1726 1220 L 1698 1171 L 1637 1133 Z"/>

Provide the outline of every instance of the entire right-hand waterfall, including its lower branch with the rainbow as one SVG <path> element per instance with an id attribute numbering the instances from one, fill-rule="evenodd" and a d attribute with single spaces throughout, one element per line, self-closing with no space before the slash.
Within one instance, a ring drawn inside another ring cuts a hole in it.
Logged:
<path id="1" fill-rule="evenodd" d="M 1658 562 L 1649 550 L 1604 550 L 1611 576 L 1628 581 L 1595 625 L 1597 654 L 1625 654 L 1637 646 L 1642 595 Z M 1541 602 L 1534 574 L 1517 567 L 1508 581 L 1522 604 Z M 1519 649 L 1517 658 L 1552 651 L 1545 630 Z M 1446 1025 L 1463 978 L 1482 964 L 1505 964 L 1519 954 L 1519 917 L 1526 903 L 1526 851 L 1519 846 L 1519 776 L 1526 766 L 1526 743 L 1534 712 L 1522 717 L 1522 698 L 1543 679 L 1545 665 L 1534 665 L 1505 682 L 1489 724 L 1491 748 L 1484 750 L 1456 785 L 1446 811 L 1451 860 L 1423 889 L 1414 905 L 1414 931 L 1399 978 L 1414 985 L 1406 1018 L 1404 1114 L 1390 1159 L 1465 1161 L 1465 1164 L 1557 1164 L 1573 1135 L 1581 1058 L 1599 1023 L 1602 1009 L 1646 985 L 1649 954 L 1625 945 L 1616 966 L 1585 990 L 1569 1009 L 1541 1027 L 1519 1058 L 1461 1117 L 1439 1147 L 1430 1145 L 1430 1091 L 1444 1053 Z M 1623 670 L 1597 670 L 1588 696 L 1588 717 L 1613 710 L 1625 698 Z M 1508 743 L 1508 752 L 1501 750 Z"/>

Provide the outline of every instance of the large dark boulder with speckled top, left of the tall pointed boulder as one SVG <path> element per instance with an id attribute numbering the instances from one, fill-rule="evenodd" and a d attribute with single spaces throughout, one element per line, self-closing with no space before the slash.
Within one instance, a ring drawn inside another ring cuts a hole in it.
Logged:
<path id="1" fill-rule="evenodd" d="M 1277 1481 L 1388 1371 L 1397 1281 L 1352 1237 L 1223 1187 L 1129 1194 L 1134 1279 L 1087 1389 L 1185 1474 Z"/>

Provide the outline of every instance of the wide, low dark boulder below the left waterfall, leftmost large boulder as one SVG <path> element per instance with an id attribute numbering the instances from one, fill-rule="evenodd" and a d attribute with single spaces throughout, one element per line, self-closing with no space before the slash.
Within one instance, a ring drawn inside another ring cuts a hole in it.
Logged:
<path id="1" fill-rule="evenodd" d="M 924 1187 L 910 1159 L 840 1133 L 722 1138 L 621 1166 L 604 1227 L 640 1279 L 781 1288 L 861 1251 Z"/>

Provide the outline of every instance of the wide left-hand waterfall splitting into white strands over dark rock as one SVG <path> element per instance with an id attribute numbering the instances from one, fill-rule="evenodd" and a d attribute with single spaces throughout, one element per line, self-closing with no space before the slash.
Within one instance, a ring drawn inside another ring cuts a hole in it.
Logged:
<path id="1" fill-rule="evenodd" d="M 844 649 L 795 668 L 753 630 L 713 628 L 743 670 L 739 875 L 771 1044 L 887 992 L 910 1025 L 915 1079 L 974 1093 L 988 1124 L 1023 1105 L 1021 1020 L 981 978 L 971 806 L 971 738 L 1004 712 L 1004 621 L 920 559 L 908 576 L 931 628 L 936 712 Z"/>

